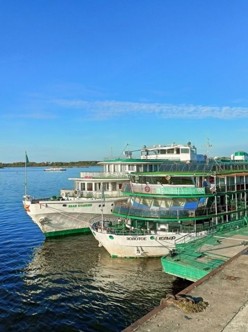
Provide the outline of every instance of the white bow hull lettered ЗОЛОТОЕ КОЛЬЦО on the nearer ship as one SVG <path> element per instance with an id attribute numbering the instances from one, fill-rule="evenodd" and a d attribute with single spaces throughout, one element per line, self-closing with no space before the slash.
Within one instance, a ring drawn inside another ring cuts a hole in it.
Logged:
<path id="1" fill-rule="evenodd" d="M 117 235 L 106 232 L 100 228 L 92 228 L 91 231 L 99 246 L 103 246 L 113 257 L 152 257 L 163 256 L 175 248 L 175 241 L 182 238 L 187 233 L 173 233 L 159 231 L 155 234 L 145 235 Z M 194 239 L 196 233 L 191 237 Z M 191 239 L 189 238 L 189 241 Z"/>

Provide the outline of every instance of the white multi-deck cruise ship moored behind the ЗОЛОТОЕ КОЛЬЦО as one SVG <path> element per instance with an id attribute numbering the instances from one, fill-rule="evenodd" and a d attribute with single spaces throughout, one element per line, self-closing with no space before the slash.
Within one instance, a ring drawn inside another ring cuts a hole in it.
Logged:
<path id="1" fill-rule="evenodd" d="M 124 151 L 125 158 L 99 162 L 103 172 L 80 172 L 78 178 L 69 178 L 74 187 L 61 189 L 58 197 L 25 195 L 23 205 L 27 214 L 45 236 L 90 232 L 88 222 L 102 213 L 102 193 L 104 216 L 111 217 L 114 202 L 125 198 L 122 188 L 129 183 L 128 174 L 131 172 L 157 172 L 164 160 L 204 160 L 189 142 L 186 145 L 144 146 L 138 151 L 141 151 L 139 159 L 132 157 L 132 151 Z"/>

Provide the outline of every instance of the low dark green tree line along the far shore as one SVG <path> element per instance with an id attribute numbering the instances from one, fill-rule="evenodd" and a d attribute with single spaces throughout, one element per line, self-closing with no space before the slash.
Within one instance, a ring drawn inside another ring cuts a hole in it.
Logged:
<path id="1" fill-rule="evenodd" d="M 29 161 L 27 166 L 31 167 L 90 167 L 90 166 L 97 166 L 97 160 L 80 160 L 80 161 L 42 161 L 42 162 L 35 162 Z M 24 167 L 25 162 L 17 161 L 17 162 L 9 162 L 9 163 L 2 163 L 0 162 L 0 167 Z"/>

